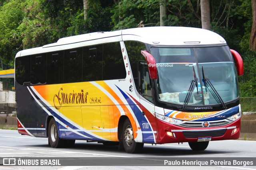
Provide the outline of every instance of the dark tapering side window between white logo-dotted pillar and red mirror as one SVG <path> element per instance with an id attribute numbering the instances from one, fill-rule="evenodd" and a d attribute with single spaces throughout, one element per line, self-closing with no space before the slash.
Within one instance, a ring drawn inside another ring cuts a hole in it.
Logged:
<path id="1" fill-rule="evenodd" d="M 146 45 L 138 41 L 124 41 L 125 48 L 128 54 L 129 62 L 132 68 L 132 76 L 134 79 L 135 87 L 137 91 L 139 90 L 138 81 L 138 69 L 139 61 L 145 61 L 145 58 L 140 53 L 141 50 L 146 50 Z"/>

